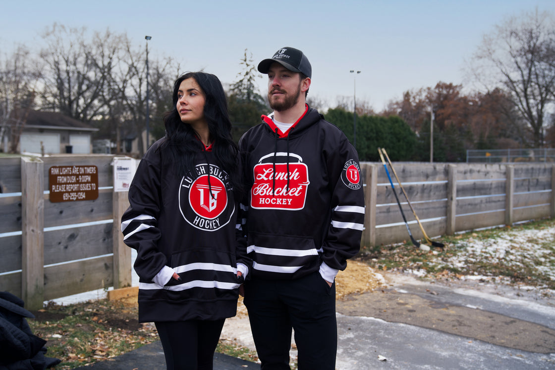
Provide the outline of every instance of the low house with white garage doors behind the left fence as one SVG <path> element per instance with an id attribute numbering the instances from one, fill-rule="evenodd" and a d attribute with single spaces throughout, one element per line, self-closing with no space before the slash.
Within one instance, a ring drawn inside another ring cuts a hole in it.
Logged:
<path id="1" fill-rule="evenodd" d="M 17 129 L 12 124 L 11 132 L 4 139 L 13 140 L 19 135 L 18 153 L 92 153 L 91 136 L 97 128 L 56 112 L 29 110 L 20 116 L 24 117 L 22 125 Z"/>

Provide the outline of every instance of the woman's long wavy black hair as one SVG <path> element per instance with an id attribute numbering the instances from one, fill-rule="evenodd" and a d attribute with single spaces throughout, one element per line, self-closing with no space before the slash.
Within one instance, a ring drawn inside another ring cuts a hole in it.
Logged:
<path id="1" fill-rule="evenodd" d="M 193 78 L 204 93 L 204 118 L 208 122 L 216 164 L 228 173 L 234 192 L 240 193 L 242 186 L 239 174 L 239 149 L 231 138 L 231 121 L 224 88 L 215 75 L 205 72 L 187 72 L 175 80 L 172 95 L 173 109 L 164 114 L 166 140 L 160 149 L 166 148 L 180 176 L 194 177 L 194 158 L 204 150 L 204 145 L 191 125 L 181 121 L 177 110 L 179 87 L 183 80 L 189 78 Z"/>

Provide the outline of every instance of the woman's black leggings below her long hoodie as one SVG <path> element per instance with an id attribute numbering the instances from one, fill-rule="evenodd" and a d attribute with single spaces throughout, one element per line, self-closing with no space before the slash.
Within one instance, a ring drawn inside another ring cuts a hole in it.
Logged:
<path id="1" fill-rule="evenodd" d="M 168 370 L 212 370 L 225 318 L 155 322 Z"/>

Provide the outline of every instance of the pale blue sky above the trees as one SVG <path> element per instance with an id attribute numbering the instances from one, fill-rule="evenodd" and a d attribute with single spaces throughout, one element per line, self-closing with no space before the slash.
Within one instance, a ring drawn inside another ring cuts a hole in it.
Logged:
<path id="1" fill-rule="evenodd" d="M 467 65 L 485 34 L 523 12 L 555 13 L 553 0 L 196 0 L 7 1 L 0 13 L 0 54 L 31 50 L 54 23 L 89 32 L 126 33 L 149 60 L 171 57 L 180 72 L 203 69 L 238 80 L 245 49 L 256 65 L 283 47 L 312 64 L 309 97 L 335 107 L 364 101 L 383 110 L 403 92 L 438 82 L 468 88 Z M 176 65 L 177 67 L 177 65 Z M 350 73 L 350 70 L 360 74 Z M 265 95 L 265 75 L 259 93 Z"/>

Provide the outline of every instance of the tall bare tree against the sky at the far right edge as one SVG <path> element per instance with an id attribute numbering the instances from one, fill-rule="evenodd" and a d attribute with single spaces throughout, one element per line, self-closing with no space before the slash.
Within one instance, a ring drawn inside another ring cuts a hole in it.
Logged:
<path id="1" fill-rule="evenodd" d="M 471 68 L 492 91 L 502 86 L 528 123 L 534 146 L 543 145 L 543 129 L 555 91 L 555 22 L 551 13 L 524 13 L 487 34 Z M 489 77 L 489 78 L 488 78 Z"/>

